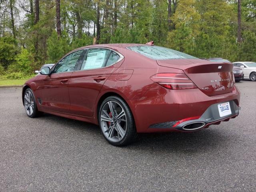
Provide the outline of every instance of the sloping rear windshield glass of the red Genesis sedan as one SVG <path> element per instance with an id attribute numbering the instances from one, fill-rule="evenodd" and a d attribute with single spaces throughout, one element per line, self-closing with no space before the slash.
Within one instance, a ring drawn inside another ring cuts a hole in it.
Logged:
<path id="1" fill-rule="evenodd" d="M 186 53 L 182 53 L 176 50 L 160 47 L 160 46 L 131 46 L 127 47 L 136 53 L 142 54 L 148 58 L 154 60 L 165 59 L 198 59 Z"/>

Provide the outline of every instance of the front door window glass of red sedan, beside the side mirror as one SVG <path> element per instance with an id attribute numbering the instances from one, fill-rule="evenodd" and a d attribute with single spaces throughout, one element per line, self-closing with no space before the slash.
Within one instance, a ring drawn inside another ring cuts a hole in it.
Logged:
<path id="1" fill-rule="evenodd" d="M 77 62 L 80 60 L 83 52 L 84 50 L 79 50 L 64 57 L 55 66 L 53 73 L 72 72 L 76 70 Z"/>

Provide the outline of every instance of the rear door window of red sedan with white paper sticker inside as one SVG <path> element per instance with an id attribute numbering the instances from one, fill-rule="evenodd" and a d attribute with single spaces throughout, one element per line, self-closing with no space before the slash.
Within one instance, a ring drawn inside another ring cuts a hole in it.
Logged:
<path id="1" fill-rule="evenodd" d="M 104 67 L 109 53 L 110 50 L 108 49 L 89 49 L 82 63 L 81 70 Z"/>

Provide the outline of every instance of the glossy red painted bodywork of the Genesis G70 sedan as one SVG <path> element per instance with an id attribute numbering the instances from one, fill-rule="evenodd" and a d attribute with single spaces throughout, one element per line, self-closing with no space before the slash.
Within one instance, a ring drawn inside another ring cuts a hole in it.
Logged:
<path id="1" fill-rule="evenodd" d="M 38 75 L 28 80 L 24 87 L 33 90 L 38 110 L 94 124 L 98 124 L 97 110 L 102 98 L 106 94 L 119 95 L 132 111 L 137 132 L 177 131 L 149 126 L 200 117 L 209 106 L 220 102 L 234 100 L 239 105 L 240 92 L 234 84 L 232 64 L 201 59 L 153 60 L 126 49 L 137 45 L 86 46 L 84 48 L 109 48 L 124 58 L 104 68 Z M 172 74 L 171 78 L 188 79 L 152 79 L 156 74 L 163 77 L 165 73 Z M 190 83 L 195 87 L 174 90 L 161 86 L 159 82 Z"/>

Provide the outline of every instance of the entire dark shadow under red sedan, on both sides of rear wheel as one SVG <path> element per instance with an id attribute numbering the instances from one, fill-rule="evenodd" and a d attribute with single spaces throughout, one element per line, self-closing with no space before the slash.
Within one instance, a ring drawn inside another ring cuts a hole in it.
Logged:
<path id="1" fill-rule="evenodd" d="M 67 127 L 79 130 L 80 134 L 93 134 L 94 136 L 102 138 L 102 142 L 105 142 L 106 145 L 108 145 L 108 142 L 103 139 L 103 136 L 100 133 L 100 128 L 97 125 L 50 114 L 44 114 L 43 118 L 45 118 L 45 120 L 54 121 L 54 123 L 57 124 L 64 123 Z M 134 143 L 121 148 L 130 150 L 148 149 L 166 152 L 176 151 L 184 153 L 197 153 L 208 151 L 209 149 L 214 150 L 218 148 L 226 148 L 230 143 L 233 142 L 231 141 L 232 139 L 234 139 L 234 135 L 232 138 L 230 138 L 228 137 L 228 133 L 225 133 L 225 130 L 214 126 L 190 133 L 170 132 L 138 134 L 138 138 Z"/>

